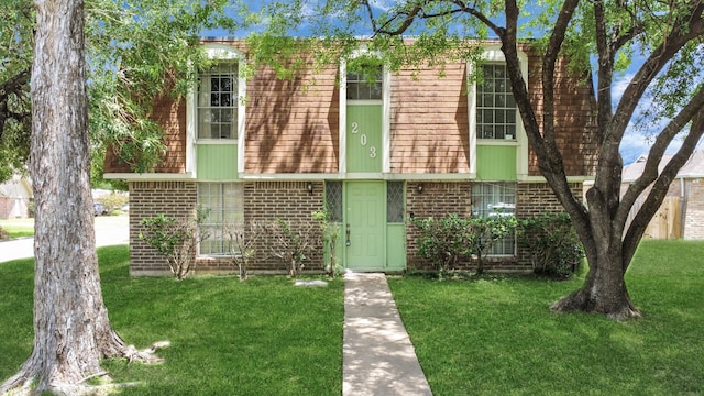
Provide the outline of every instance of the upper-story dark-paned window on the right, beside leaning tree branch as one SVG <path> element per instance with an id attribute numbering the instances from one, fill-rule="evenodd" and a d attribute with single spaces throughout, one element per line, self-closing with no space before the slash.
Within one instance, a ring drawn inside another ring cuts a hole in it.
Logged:
<path id="1" fill-rule="evenodd" d="M 480 66 L 482 79 L 476 85 L 476 138 L 516 139 L 516 100 L 505 64 Z"/>

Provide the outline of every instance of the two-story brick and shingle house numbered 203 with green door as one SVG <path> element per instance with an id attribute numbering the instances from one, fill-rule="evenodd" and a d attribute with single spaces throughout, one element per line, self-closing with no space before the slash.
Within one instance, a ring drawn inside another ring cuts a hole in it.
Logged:
<path id="1" fill-rule="evenodd" d="M 238 41 L 208 40 L 220 62 L 200 76 L 184 102 L 155 101 L 168 152 L 154 172 L 136 174 L 110 152 L 107 178 L 130 184 L 130 254 L 134 275 L 163 274 L 164 258 L 139 239 L 145 217 L 179 217 L 210 210 L 209 240 L 200 244 L 198 272 L 231 272 L 224 223 L 309 220 L 328 208 L 341 226 L 340 264 L 354 271 L 403 271 L 422 265 L 409 218 L 488 216 L 493 208 L 517 217 L 561 210 L 518 114 L 503 54 L 487 43 L 484 78 L 470 82 L 466 62 L 439 69 L 377 70 L 370 82 L 345 65 L 276 79 L 264 67 L 244 77 L 246 52 Z M 540 108 L 540 62 L 521 46 L 521 70 Z M 583 76 L 554 73 L 556 133 L 575 194 L 591 179 L 596 142 L 594 103 Z M 337 76 L 341 81 L 336 82 Z M 315 78 L 315 85 L 308 82 Z M 349 241 L 348 244 L 344 242 Z M 261 253 L 251 270 L 283 272 Z M 494 248 L 495 271 L 530 270 L 513 239 Z M 322 268 L 320 256 L 306 268 Z"/>

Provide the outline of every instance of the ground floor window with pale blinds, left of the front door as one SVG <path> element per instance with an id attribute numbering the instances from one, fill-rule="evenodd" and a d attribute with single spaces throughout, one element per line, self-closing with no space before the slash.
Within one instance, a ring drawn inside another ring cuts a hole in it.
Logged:
<path id="1" fill-rule="evenodd" d="M 201 231 L 208 238 L 200 242 L 201 255 L 231 254 L 224 230 L 244 222 L 244 189 L 241 183 L 199 183 L 198 207 L 205 210 Z"/>

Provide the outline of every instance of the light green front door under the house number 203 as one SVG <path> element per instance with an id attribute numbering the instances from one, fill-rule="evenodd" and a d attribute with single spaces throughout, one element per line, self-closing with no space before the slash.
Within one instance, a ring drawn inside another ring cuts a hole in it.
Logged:
<path id="1" fill-rule="evenodd" d="M 345 184 L 345 266 L 382 271 L 386 264 L 386 188 L 384 182 Z"/>

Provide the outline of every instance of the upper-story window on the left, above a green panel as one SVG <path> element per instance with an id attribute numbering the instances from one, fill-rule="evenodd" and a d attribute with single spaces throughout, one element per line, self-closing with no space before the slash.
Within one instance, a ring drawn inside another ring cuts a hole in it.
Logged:
<path id="1" fill-rule="evenodd" d="M 221 62 L 200 73 L 198 139 L 238 139 L 238 63 Z"/>

